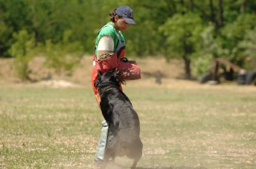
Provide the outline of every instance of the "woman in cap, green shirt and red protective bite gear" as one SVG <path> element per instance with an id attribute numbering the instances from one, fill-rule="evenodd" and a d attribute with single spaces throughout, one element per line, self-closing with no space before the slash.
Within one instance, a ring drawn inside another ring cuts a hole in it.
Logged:
<path id="1" fill-rule="evenodd" d="M 134 61 L 128 61 L 125 55 L 125 40 L 121 31 L 125 31 L 133 20 L 133 11 L 129 6 L 120 6 L 113 10 L 108 24 L 102 27 L 98 33 L 95 51 L 93 55 L 92 87 L 97 103 L 100 103 L 100 96 L 94 82 L 98 72 L 106 73 L 113 68 L 118 68 L 121 80 L 135 80 L 141 78 L 140 67 Z M 122 91 L 122 87 L 120 86 Z M 107 142 L 113 138 L 111 126 L 106 121 L 102 122 L 102 133 L 99 145 L 95 154 L 95 165 L 100 165 L 104 159 L 104 151 Z"/>

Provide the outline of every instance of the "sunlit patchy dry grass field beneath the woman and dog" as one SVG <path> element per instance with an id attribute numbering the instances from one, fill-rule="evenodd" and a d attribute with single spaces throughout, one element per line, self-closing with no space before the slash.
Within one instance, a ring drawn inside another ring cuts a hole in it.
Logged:
<path id="1" fill-rule="evenodd" d="M 141 122 L 138 168 L 256 168 L 255 87 L 164 84 L 124 87 Z M 1 85 L 0 168 L 91 168 L 101 121 L 90 85 Z"/>

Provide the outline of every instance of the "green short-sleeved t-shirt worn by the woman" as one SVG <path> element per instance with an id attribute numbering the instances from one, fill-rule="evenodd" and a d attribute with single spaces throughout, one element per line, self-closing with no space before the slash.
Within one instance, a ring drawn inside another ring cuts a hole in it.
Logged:
<path id="1" fill-rule="evenodd" d="M 98 43 L 99 40 L 102 36 L 104 35 L 109 35 L 112 36 L 114 40 L 114 52 L 116 52 L 116 47 L 118 46 L 118 36 L 120 38 L 120 41 L 124 42 L 124 36 L 121 31 L 116 31 L 115 27 L 113 26 L 112 22 L 108 22 L 104 27 L 102 27 L 98 33 L 98 36 L 96 38 L 96 43 L 95 43 L 95 56 L 97 56 L 97 48 L 98 48 Z"/>

